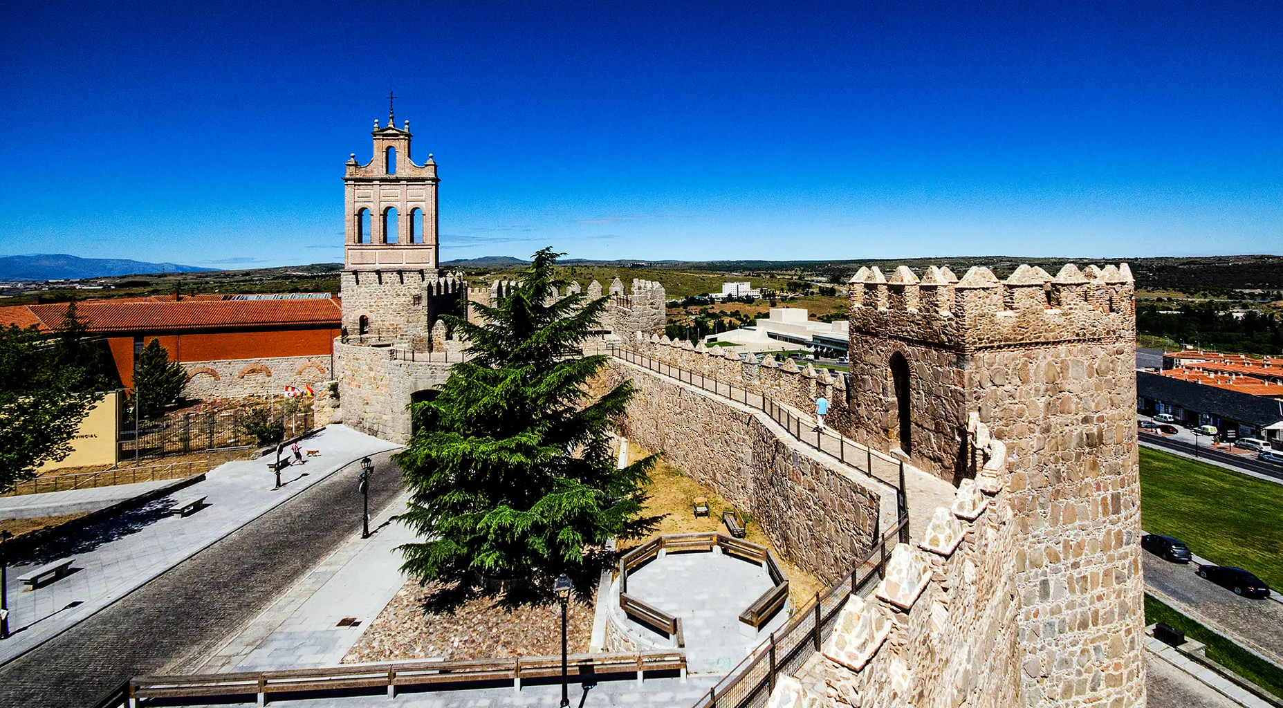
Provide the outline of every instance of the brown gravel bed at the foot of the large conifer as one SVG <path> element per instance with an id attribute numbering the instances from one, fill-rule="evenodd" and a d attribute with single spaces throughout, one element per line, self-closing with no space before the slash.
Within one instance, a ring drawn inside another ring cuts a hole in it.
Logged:
<path id="1" fill-rule="evenodd" d="M 561 605 L 506 605 L 495 596 L 462 603 L 441 585 L 407 582 L 352 646 L 344 663 L 395 659 L 489 659 L 561 654 Z M 446 607 L 441 607 L 446 605 Z M 572 598 L 566 616 L 570 653 L 586 653 L 593 604 Z"/>

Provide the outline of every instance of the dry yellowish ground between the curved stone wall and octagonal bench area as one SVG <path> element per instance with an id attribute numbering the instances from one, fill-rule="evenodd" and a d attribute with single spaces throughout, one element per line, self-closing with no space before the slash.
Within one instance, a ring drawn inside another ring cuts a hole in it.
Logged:
<path id="1" fill-rule="evenodd" d="M 629 459 L 640 459 L 647 454 L 649 453 L 629 442 Z M 721 514 L 724 510 L 733 509 L 733 504 L 718 496 L 713 490 L 685 476 L 681 469 L 668 464 L 663 458 L 659 458 L 654 471 L 650 472 L 650 485 L 647 486 L 647 494 L 650 495 L 650 499 L 647 500 L 643 513 L 645 516 L 666 514 L 654 530 L 656 536 L 708 531 L 729 534 L 726 526 L 722 523 Z M 697 517 L 694 514 L 692 500 L 695 496 L 706 496 L 708 499 L 707 517 Z M 771 544 L 771 540 L 762 531 L 762 526 L 757 523 L 757 519 L 743 509 L 739 509 L 739 514 L 744 519 L 744 540 L 771 549 L 771 553 L 775 553 L 775 558 L 780 562 L 780 567 L 789 576 L 789 596 L 793 599 L 793 607 L 801 608 L 807 600 L 813 599 L 816 593 L 826 590 L 828 586 L 820 578 L 780 557 L 775 550 L 775 545 Z M 645 543 L 645 540 L 625 541 L 620 546 L 621 550 L 626 550 Z"/>

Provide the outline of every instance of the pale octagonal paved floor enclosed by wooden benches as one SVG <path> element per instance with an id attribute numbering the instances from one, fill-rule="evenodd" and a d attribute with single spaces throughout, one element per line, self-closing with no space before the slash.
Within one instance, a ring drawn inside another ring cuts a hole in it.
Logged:
<path id="1" fill-rule="evenodd" d="M 725 673 L 753 646 L 788 621 L 788 607 L 757 632 L 739 613 L 771 589 L 766 568 L 722 553 L 668 553 L 629 573 L 629 595 L 681 618 L 686 666 L 694 673 Z M 611 586 L 608 609 L 625 622 L 644 648 L 671 648 L 663 634 L 627 618 L 620 609 L 620 586 Z"/>

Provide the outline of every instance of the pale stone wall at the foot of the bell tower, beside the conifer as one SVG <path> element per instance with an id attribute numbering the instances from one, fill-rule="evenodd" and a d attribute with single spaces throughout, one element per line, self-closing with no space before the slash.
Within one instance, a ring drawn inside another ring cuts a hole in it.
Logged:
<path id="1" fill-rule="evenodd" d="M 411 436 L 411 395 L 439 389 L 450 364 L 393 359 L 390 346 L 334 342 L 343 423 L 390 442 Z"/>

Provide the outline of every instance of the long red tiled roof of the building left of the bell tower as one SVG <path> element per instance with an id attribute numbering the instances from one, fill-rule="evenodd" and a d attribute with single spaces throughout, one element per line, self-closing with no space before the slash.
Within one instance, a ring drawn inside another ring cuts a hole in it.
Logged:
<path id="1" fill-rule="evenodd" d="M 0 308 L 17 310 L 19 308 Z M 26 305 L 36 322 L 46 328 L 62 323 L 67 304 Z M 9 317 L 9 313 L 4 313 Z M 86 300 L 76 304 L 76 314 L 92 332 L 163 331 L 186 328 L 264 327 L 321 324 L 337 327 L 339 301 L 310 300 L 182 300 L 139 303 Z M 36 323 L 33 322 L 33 323 Z"/>

